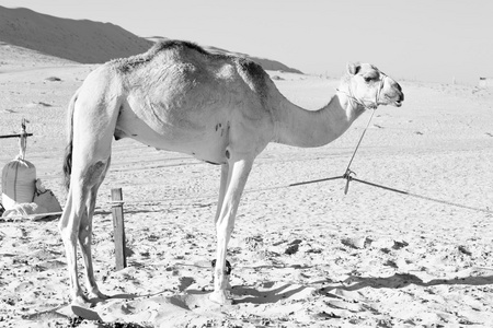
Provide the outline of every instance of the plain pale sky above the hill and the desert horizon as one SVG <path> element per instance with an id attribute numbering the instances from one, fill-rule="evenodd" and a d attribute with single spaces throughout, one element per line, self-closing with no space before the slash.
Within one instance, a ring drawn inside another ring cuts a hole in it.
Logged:
<path id="1" fill-rule="evenodd" d="M 395 79 L 493 78 L 492 0 L 1 0 L 58 17 L 108 22 L 278 60 L 339 78 L 349 61 Z"/>

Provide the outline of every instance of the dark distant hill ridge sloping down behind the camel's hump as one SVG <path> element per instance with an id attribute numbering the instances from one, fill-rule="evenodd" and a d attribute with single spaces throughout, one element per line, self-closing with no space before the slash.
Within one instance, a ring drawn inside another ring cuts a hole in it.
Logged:
<path id="1" fill-rule="evenodd" d="M 0 5 L 0 42 L 81 63 L 102 63 L 148 50 L 162 37 L 142 38 L 111 24 L 69 20 L 30 9 Z M 301 73 L 278 61 L 205 47 L 211 52 L 249 57 L 265 70 Z"/>

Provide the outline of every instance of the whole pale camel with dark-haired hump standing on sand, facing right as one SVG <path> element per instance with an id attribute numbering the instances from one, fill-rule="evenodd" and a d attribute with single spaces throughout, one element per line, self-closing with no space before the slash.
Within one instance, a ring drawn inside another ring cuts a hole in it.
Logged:
<path id="1" fill-rule="evenodd" d="M 134 138 L 221 165 L 214 219 L 214 291 L 208 297 L 228 304 L 227 246 L 255 157 L 270 142 L 300 148 L 328 144 L 367 108 L 399 107 L 403 99 L 401 86 L 376 67 L 349 63 L 330 103 L 319 110 L 306 110 L 290 103 L 257 63 L 180 40 L 158 43 L 145 54 L 96 68 L 68 109 L 64 164 L 68 197 L 59 230 L 72 303 L 91 306 L 108 298 L 94 280 L 91 236 L 113 138 Z M 85 294 L 77 272 L 78 243 L 85 267 Z"/>

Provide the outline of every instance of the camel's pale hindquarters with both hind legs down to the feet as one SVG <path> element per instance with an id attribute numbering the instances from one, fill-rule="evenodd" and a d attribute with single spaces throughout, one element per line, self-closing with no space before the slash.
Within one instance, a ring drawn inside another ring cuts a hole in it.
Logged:
<path id="1" fill-rule="evenodd" d="M 105 67 L 93 71 L 72 98 L 70 106 L 69 149 L 66 163 L 71 163 L 70 189 L 59 229 L 67 251 L 70 296 L 88 305 L 77 273 L 77 243 L 85 265 L 88 292 L 104 297 L 94 281 L 91 258 L 92 215 L 98 188 L 110 165 L 112 139 L 119 115 L 119 84 L 112 81 Z M 69 169 L 66 169 L 66 174 Z"/>

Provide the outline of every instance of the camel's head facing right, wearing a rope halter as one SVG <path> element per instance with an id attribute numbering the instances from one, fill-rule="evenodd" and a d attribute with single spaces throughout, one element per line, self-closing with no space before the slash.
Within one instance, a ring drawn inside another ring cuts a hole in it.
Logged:
<path id="1" fill-rule="evenodd" d="M 365 107 L 378 105 L 400 107 L 404 101 L 402 89 L 394 80 L 369 63 L 348 63 L 349 96 Z"/>

